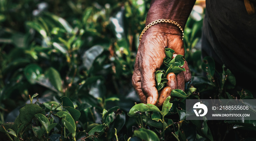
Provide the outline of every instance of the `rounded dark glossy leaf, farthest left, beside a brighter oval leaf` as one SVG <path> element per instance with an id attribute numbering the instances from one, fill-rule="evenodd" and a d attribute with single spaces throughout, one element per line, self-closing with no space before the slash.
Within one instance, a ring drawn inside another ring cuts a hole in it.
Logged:
<path id="1" fill-rule="evenodd" d="M 29 64 L 24 68 L 24 75 L 30 84 L 35 84 L 38 77 L 43 74 L 42 68 L 37 64 Z"/>

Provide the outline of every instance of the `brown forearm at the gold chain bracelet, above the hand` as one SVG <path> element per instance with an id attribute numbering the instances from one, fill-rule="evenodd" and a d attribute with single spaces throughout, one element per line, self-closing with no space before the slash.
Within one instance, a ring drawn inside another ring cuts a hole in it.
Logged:
<path id="1" fill-rule="evenodd" d="M 147 13 L 146 25 L 158 19 L 170 19 L 176 21 L 184 29 L 189 14 L 196 0 L 152 0 Z M 177 29 L 178 27 L 170 23 L 154 25 L 164 29 Z"/>

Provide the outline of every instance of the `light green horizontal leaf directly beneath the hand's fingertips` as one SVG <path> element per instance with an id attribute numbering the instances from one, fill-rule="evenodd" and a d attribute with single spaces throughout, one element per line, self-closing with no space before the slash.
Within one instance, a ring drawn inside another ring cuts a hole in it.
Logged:
<path id="1" fill-rule="evenodd" d="M 138 112 L 146 112 L 146 111 L 152 111 L 152 112 L 159 112 L 160 113 L 160 110 L 157 108 L 157 106 L 155 106 L 153 104 L 140 103 L 140 104 L 134 105 L 130 109 L 130 111 L 128 113 L 128 116 L 134 116 Z"/>

